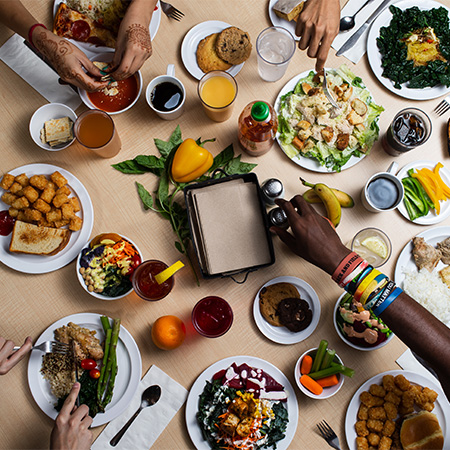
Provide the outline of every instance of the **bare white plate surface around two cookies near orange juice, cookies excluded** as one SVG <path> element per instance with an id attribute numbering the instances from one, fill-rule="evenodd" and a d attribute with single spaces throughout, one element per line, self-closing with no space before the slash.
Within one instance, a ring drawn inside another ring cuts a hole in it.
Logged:
<path id="1" fill-rule="evenodd" d="M 206 36 L 213 33 L 220 33 L 225 28 L 231 27 L 230 24 L 222 22 L 220 20 L 208 20 L 207 22 L 199 23 L 192 27 L 183 39 L 181 44 L 181 59 L 183 60 L 186 70 L 197 80 L 205 75 L 197 64 L 197 47 L 199 42 Z M 227 72 L 230 75 L 236 76 L 244 63 L 231 66 Z"/>

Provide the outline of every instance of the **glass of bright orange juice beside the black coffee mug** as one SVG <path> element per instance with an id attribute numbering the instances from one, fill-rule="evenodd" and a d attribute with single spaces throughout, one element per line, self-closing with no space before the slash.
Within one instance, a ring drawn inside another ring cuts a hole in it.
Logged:
<path id="1" fill-rule="evenodd" d="M 200 80 L 198 95 L 206 115 L 215 122 L 224 122 L 233 112 L 237 96 L 236 80 L 228 72 L 213 70 Z"/>

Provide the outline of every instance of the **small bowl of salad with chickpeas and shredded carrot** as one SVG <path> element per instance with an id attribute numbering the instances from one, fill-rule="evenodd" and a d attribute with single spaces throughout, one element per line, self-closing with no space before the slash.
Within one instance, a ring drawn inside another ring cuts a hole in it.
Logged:
<path id="1" fill-rule="evenodd" d="M 136 247 L 118 234 L 95 237 L 81 251 L 80 274 L 89 292 L 118 297 L 132 289 L 131 275 L 141 263 Z"/>

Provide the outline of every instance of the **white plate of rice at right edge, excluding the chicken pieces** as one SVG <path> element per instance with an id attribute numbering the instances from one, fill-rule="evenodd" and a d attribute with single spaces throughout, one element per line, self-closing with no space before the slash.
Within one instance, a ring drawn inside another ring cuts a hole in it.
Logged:
<path id="1" fill-rule="evenodd" d="M 417 235 L 429 245 L 436 246 L 450 236 L 450 227 L 436 227 Z M 419 270 L 412 255 L 413 244 L 403 248 L 395 266 L 395 283 L 410 297 L 450 328 L 450 288 L 442 280 L 441 272 L 447 266 L 440 261 L 432 272 Z M 450 269 L 449 269 L 450 270 Z"/>

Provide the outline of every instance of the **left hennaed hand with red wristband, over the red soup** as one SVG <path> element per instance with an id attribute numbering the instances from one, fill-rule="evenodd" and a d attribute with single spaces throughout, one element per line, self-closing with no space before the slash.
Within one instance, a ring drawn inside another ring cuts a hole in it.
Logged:
<path id="1" fill-rule="evenodd" d="M 36 27 L 33 31 L 35 47 L 47 58 L 61 79 L 88 92 L 105 88 L 108 83 L 100 82 L 100 70 L 75 45 L 56 36 L 49 30 Z"/>

